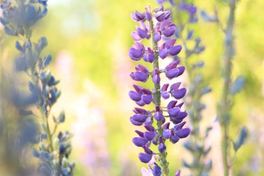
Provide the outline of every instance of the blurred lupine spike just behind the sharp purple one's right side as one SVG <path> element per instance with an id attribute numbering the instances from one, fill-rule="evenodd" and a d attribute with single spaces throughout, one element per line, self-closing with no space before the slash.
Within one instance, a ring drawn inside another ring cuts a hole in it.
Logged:
<path id="1" fill-rule="evenodd" d="M 163 1 L 158 2 L 163 3 Z M 206 145 L 206 138 L 212 127 L 201 129 L 203 118 L 201 111 L 206 108 L 206 104 L 202 102 L 201 98 L 210 93 L 211 88 L 208 88 L 208 85 L 204 83 L 203 74 L 199 72 L 199 68 L 204 67 L 204 61 L 197 61 L 195 58 L 205 49 L 201 45 L 201 38 L 197 37 L 195 30 L 192 29 L 192 25 L 198 22 L 197 7 L 188 1 L 176 0 L 170 1 L 170 8 L 177 24 L 175 35 L 183 43 L 185 56 L 181 60 L 185 65 L 189 79 L 189 91 L 185 98 L 185 105 L 190 117 L 192 132 L 188 141 L 184 143 L 184 147 L 192 153 L 192 160 L 183 160 L 183 166 L 190 169 L 191 175 L 208 175 L 212 168 L 212 160 L 207 157 L 211 146 Z M 195 45 L 193 46 L 193 44 Z"/>

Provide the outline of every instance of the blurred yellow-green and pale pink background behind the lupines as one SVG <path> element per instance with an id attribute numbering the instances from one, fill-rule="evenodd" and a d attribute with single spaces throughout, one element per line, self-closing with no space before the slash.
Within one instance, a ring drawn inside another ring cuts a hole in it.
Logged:
<path id="1" fill-rule="evenodd" d="M 222 22 L 226 21 L 228 8 L 223 1 L 196 0 L 194 3 L 199 10 L 208 13 L 217 8 Z M 133 84 L 129 74 L 135 63 L 129 58 L 128 51 L 133 44 L 130 33 L 135 29 L 130 15 L 135 10 L 144 10 L 147 4 L 158 6 L 154 0 L 51 0 L 47 17 L 33 30 L 35 40 L 42 35 L 47 37 L 49 45 L 44 51 L 53 56 L 51 70 L 61 80 L 62 96 L 53 113 L 58 114 L 60 109 L 65 109 L 66 122 L 60 129 L 74 133 L 71 160 L 76 161 L 76 176 L 134 176 L 140 175 L 140 168 L 145 166 L 137 157 L 140 149 L 131 143 L 135 127 L 129 117 L 135 104 L 129 99 L 128 92 Z M 169 4 L 165 3 L 165 6 Z M 264 1 L 242 0 L 236 11 L 233 77 L 242 74 L 245 87 L 235 98 L 231 136 L 236 138 L 240 127 L 245 125 L 249 129 L 249 138 L 236 155 L 233 175 L 264 175 L 263 9 Z M 211 175 L 218 176 L 222 175 L 221 133 L 215 119 L 217 99 L 222 90 L 220 65 L 224 35 L 217 25 L 202 20 L 195 28 L 206 46 L 206 51 L 199 58 L 206 63 L 203 69 L 205 81 L 213 89 L 204 97 L 207 109 L 203 125 L 213 125 L 208 140 L 208 144 L 213 146 L 209 157 L 213 159 Z M 0 31 L 1 74 L 13 75 L 16 79 L 12 83 L 1 77 L 1 83 L 5 88 L 19 85 L 26 89 L 26 77 L 12 74 L 13 58 L 17 56 L 15 39 L 4 35 L 2 26 Z M 188 80 L 184 83 L 188 85 Z M 1 101 L 5 101 L 2 97 Z M 7 110 L 13 111 L 13 108 Z M 7 119 L 1 118 L 0 129 L 3 129 Z M 18 119 L 10 120 L 19 123 Z M 7 176 L 5 170 L 15 163 L 6 163 L 10 156 L 5 156 L 7 147 L 4 145 L 8 143 L 3 138 L 0 140 L 3 140 L 0 141 L 0 173 Z M 188 175 L 188 170 L 181 163 L 181 159 L 190 157 L 183 149 L 183 142 L 168 146 L 168 159 L 171 173 L 182 168 L 183 175 Z M 24 155 L 30 157 L 31 154 Z"/>

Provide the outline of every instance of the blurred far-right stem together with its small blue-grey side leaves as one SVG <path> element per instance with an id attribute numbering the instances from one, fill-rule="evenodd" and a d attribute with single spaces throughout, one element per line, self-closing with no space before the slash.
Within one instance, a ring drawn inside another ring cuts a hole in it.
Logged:
<path id="1" fill-rule="evenodd" d="M 236 22 L 235 14 L 238 1 L 227 0 L 226 3 L 229 6 L 229 15 L 225 28 L 218 18 L 217 10 L 215 10 L 214 15 L 208 15 L 205 11 L 201 11 L 201 17 L 203 17 L 206 22 L 217 23 L 220 30 L 224 33 L 224 56 L 222 63 L 222 77 L 224 82 L 222 86 L 222 96 L 217 104 L 217 118 L 220 121 L 222 130 L 222 162 L 224 176 L 232 175 L 232 165 L 236 159 L 236 152 L 238 152 L 238 149 L 245 143 L 245 139 L 247 138 L 246 127 L 240 129 L 236 141 L 233 141 L 229 134 L 231 120 L 230 112 L 233 106 L 233 99 L 234 96 L 242 90 L 244 78 L 239 76 L 235 81 L 232 81 L 232 59 L 236 55 L 234 26 Z M 232 145 L 233 152 L 231 153 Z M 233 156 L 231 156 L 231 154 L 233 154 Z"/>

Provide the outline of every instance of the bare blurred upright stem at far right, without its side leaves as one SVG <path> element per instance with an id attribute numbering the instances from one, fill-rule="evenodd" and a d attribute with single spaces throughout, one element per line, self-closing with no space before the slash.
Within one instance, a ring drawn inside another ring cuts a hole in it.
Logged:
<path id="1" fill-rule="evenodd" d="M 229 90 L 231 84 L 231 59 L 233 58 L 233 26 L 235 23 L 236 1 L 229 1 L 229 19 L 227 21 L 225 32 L 225 48 L 224 48 L 224 67 L 223 78 L 224 87 L 222 91 L 222 99 L 219 107 L 219 118 L 222 129 L 222 159 L 224 166 L 224 176 L 229 176 L 231 168 L 229 167 Z"/>

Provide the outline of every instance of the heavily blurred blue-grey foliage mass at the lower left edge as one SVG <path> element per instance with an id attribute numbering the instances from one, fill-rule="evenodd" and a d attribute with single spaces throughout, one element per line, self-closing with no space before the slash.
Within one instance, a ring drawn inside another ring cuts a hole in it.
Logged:
<path id="1" fill-rule="evenodd" d="M 39 127 L 33 117 L 24 116 L 22 107 L 30 106 L 35 98 L 17 88 L 17 83 L 22 82 L 6 68 L 6 59 L 6 52 L 1 51 L 0 170 L 1 175 L 28 176 L 34 170 L 33 163 L 27 160 L 32 155 L 28 148 L 38 143 Z"/>

